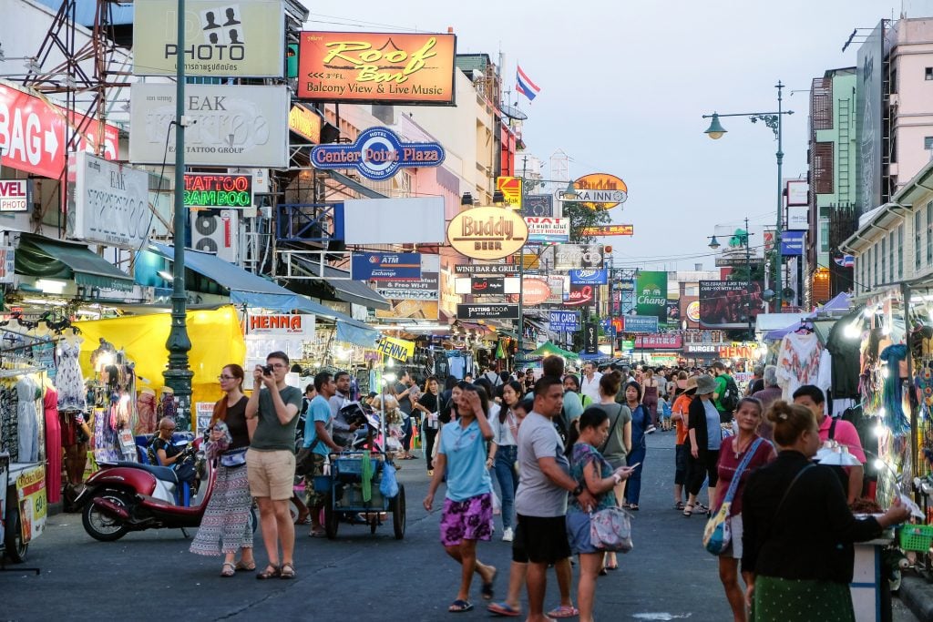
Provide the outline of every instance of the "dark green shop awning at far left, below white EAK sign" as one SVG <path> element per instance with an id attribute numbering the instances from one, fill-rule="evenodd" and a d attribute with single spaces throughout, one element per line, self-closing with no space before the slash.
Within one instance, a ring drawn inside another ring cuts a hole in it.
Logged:
<path id="1" fill-rule="evenodd" d="M 74 280 L 78 285 L 132 290 L 132 277 L 84 244 L 22 233 L 16 249 L 16 271 L 25 276 Z"/>

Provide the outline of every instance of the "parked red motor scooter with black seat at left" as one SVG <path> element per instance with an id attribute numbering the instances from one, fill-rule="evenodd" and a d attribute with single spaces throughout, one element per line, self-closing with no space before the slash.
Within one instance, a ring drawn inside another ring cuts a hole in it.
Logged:
<path id="1" fill-rule="evenodd" d="M 185 528 L 201 525 L 214 492 L 216 474 L 211 461 L 205 461 L 202 494 L 196 495 L 197 503 L 192 505 L 178 505 L 177 490 L 182 484 L 167 466 L 124 462 L 99 466 L 85 483 L 76 505 L 81 508 L 84 531 L 101 542 L 147 529 L 181 529 L 188 537 Z M 255 529 L 255 512 L 253 525 Z"/>

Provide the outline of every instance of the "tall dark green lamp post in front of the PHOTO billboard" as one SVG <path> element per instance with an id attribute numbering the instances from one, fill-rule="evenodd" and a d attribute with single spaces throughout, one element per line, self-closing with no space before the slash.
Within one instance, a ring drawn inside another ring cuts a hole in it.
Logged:
<path id="1" fill-rule="evenodd" d="M 185 296 L 185 229 L 188 210 L 185 209 L 185 0 L 178 0 L 177 15 L 178 62 L 175 71 L 175 172 L 174 172 L 174 220 L 172 242 L 172 328 L 165 348 L 169 351 L 168 368 L 162 372 L 165 384 L 172 388 L 178 400 L 179 423 L 191 420 L 191 377 L 194 373 L 188 366 L 188 339 L 186 323 L 188 298 Z M 180 427 L 180 426 L 179 426 Z"/>

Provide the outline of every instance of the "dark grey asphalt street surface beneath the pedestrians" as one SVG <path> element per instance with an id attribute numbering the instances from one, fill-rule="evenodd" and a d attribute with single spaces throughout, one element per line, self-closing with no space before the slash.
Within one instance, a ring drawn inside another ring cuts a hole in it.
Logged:
<path id="1" fill-rule="evenodd" d="M 399 464 L 408 499 L 405 539 L 394 539 L 391 522 L 375 534 L 368 526 L 341 523 L 333 541 L 309 538 L 308 528 L 299 527 L 293 581 L 257 581 L 250 573 L 222 578 L 221 559 L 189 553 L 189 541 L 179 530 L 130 533 L 116 543 L 101 543 L 84 532 L 79 515 L 51 517 L 24 564 L 39 567 L 41 574 L 15 566 L 0 574 L 0 619 L 450 619 L 447 606 L 456 596 L 459 566 L 439 544 L 439 511 L 428 514 L 421 505 L 427 490 L 424 460 Z M 619 556 L 619 571 L 599 579 L 599 620 L 731 620 L 717 560 L 700 546 L 705 518 L 684 518 L 673 509 L 673 469 L 674 433 L 649 435 L 634 550 Z M 500 528 L 496 518 L 494 540 L 479 546 L 480 560 L 499 569 L 496 600 L 505 595 L 510 560 Z M 260 538 L 257 533 L 261 568 Z M 575 602 L 576 583 L 575 571 Z M 471 601 L 474 611 L 457 619 L 487 618 L 479 579 Z M 522 603 L 526 608 L 524 597 Z M 558 604 L 553 574 L 545 604 Z M 898 601 L 894 619 L 916 618 Z"/>

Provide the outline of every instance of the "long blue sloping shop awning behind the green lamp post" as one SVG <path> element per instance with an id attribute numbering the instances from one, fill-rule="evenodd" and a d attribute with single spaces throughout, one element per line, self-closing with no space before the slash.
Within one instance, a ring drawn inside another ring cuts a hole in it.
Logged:
<path id="1" fill-rule="evenodd" d="M 149 242 L 148 250 L 165 257 L 174 259 L 174 248 L 159 242 Z M 313 313 L 322 317 L 345 322 L 361 328 L 369 328 L 362 322 L 341 313 L 328 309 L 322 304 L 290 292 L 282 285 L 267 281 L 261 276 L 247 272 L 239 266 L 234 266 L 210 253 L 200 253 L 185 249 L 185 268 L 194 270 L 198 274 L 215 281 L 220 286 L 230 290 L 230 302 L 247 307 L 272 309 L 273 311 L 302 311 Z"/>

